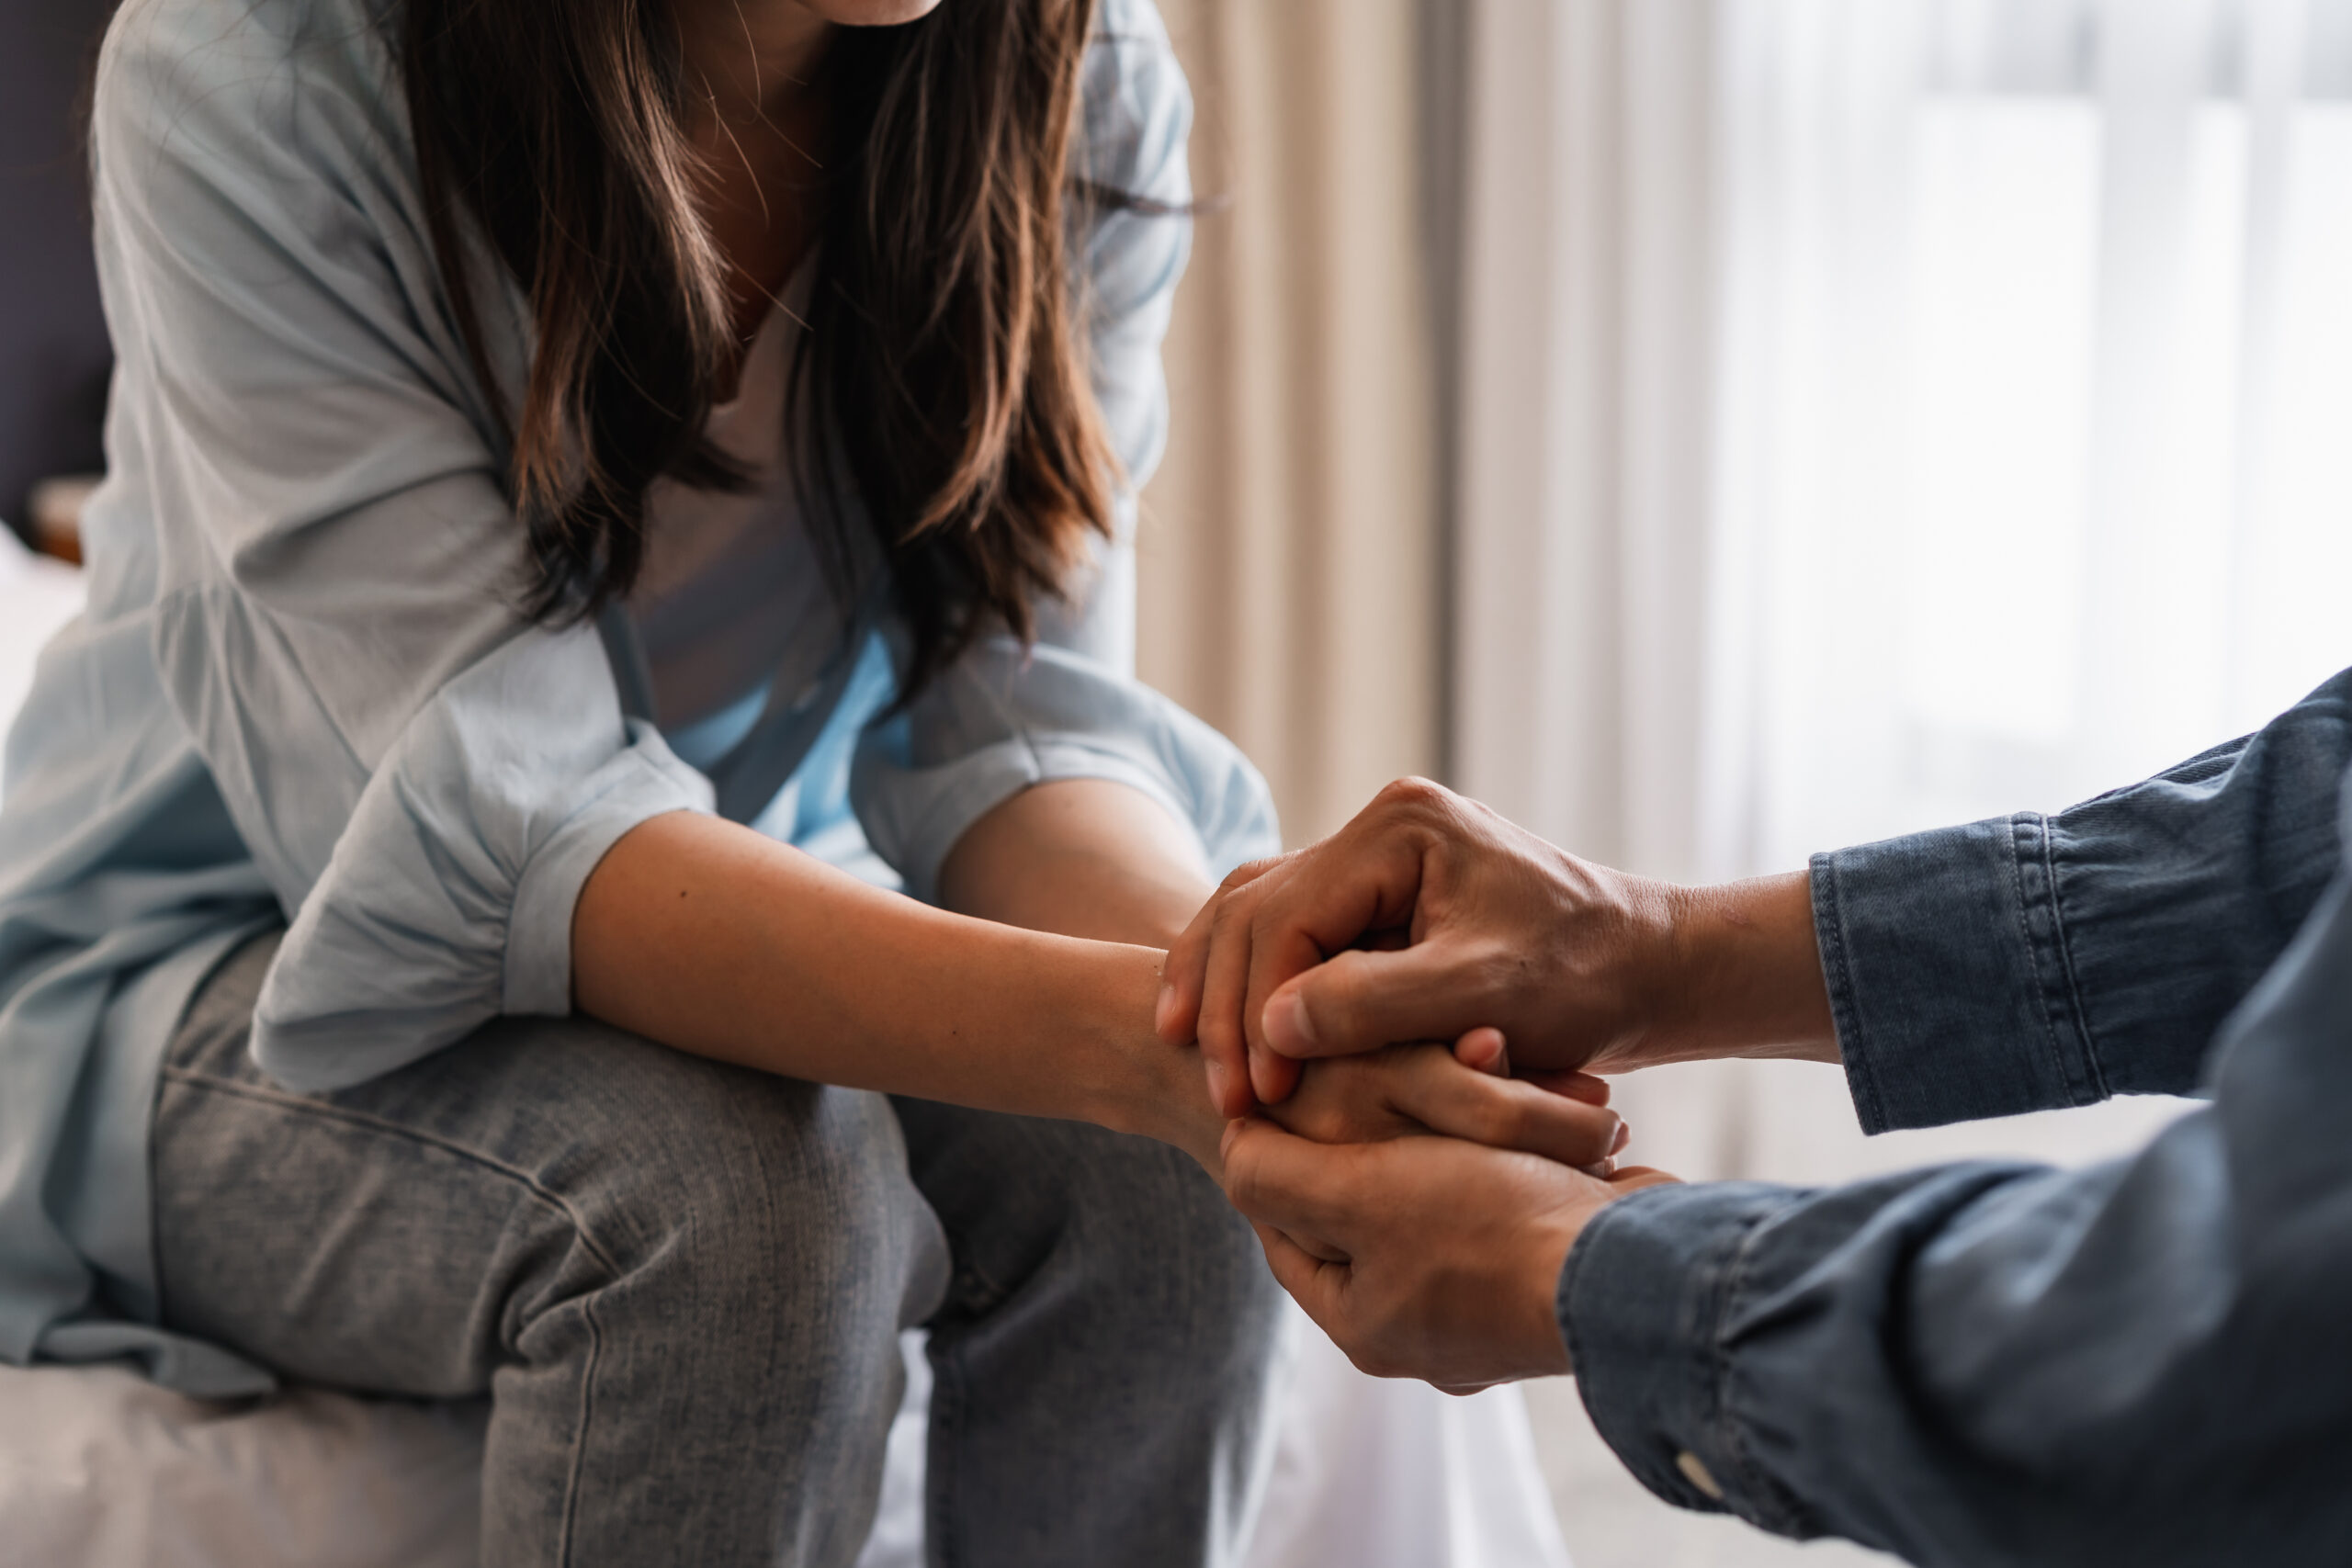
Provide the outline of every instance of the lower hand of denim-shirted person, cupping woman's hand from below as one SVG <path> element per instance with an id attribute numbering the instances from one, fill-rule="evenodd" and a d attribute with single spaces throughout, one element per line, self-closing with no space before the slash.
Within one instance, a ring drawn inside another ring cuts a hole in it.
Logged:
<path id="1" fill-rule="evenodd" d="M 1275 1279 L 1331 1342 L 1374 1378 L 1449 1394 L 1571 1371 L 1552 1305 L 1569 1248 L 1606 1204 L 1675 1180 L 1456 1138 L 1329 1147 L 1263 1119 L 1225 1128 L 1223 1164 Z"/>

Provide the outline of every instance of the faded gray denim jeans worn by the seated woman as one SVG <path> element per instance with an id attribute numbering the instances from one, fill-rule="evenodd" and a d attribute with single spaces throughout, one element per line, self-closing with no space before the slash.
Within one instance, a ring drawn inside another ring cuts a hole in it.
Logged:
<path id="1" fill-rule="evenodd" d="M 273 952 L 165 1060 L 165 1321 L 292 1380 L 487 1394 L 487 1568 L 849 1563 L 913 1324 L 931 1563 L 1237 1556 L 1277 1293 L 1176 1150 L 555 1018 L 294 1095 L 245 1048 Z"/>

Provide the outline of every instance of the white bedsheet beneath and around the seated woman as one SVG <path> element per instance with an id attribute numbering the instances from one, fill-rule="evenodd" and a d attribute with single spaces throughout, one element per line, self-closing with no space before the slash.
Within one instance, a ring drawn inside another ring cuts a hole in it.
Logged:
<path id="1" fill-rule="evenodd" d="M 78 574 L 0 529 L 0 719 L 78 607 Z M 1517 1389 L 1376 1382 L 1305 1316 L 1294 1331 L 1244 1568 L 1566 1568 Z M 908 1366 L 858 1568 L 922 1561 L 913 1338 Z M 0 1366 L 0 1568 L 475 1568 L 480 1446 L 477 1406 L 320 1389 L 209 1406 L 125 1368 Z"/>

